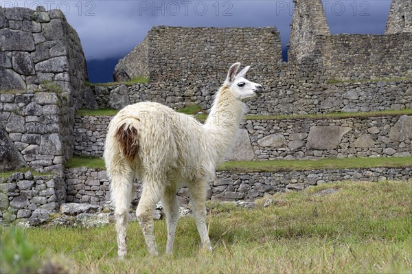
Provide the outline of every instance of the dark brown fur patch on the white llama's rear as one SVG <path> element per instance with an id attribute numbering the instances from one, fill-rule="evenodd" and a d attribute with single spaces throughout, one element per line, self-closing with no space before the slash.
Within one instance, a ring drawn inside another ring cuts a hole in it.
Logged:
<path id="1" fill-rule="evenodd" d="M 116 133 L 117 141 L 120 144 L 120 148 L 122 148 L 122 154 L 130 162 L 135 160 L 139 151 L 138 136 L 137 129 L 126 124 L 120 126 Z"/>

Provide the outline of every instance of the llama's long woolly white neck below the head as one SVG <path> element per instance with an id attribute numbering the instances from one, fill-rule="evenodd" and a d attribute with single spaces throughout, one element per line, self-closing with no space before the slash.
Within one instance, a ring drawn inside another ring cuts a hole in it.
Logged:
<path id="1" fill-rule="evenodd" d="M 223 85 L 205 122 L 209 145 L 217 154 L 216 161 L 220 161 L 231 147 L 243 115 L 244 103 L 233 96 L 226 84 Z"/>

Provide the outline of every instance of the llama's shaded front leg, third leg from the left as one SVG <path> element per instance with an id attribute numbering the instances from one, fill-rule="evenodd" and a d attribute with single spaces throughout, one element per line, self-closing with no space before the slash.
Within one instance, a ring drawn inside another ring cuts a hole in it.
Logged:
<path id="1" fill-rule="evenodd" d="M 168 226 L 168 242 L 166 253 L 173 252 L 174 235 L 176 233 L 177 220 L 179 219 L 179 204 L 177 203 L 176 187 L 167 187 L 163 194 L 163 207 L 166 215 L 166 225 Z"/>

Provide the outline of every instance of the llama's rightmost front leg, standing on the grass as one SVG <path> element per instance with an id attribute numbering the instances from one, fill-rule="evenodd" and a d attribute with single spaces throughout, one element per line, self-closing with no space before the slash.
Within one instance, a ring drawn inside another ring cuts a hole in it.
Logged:
<path id="1" fill-rule="evenodd" d="M 207 183 L 199 182 L 189 186 L 190 197 L 192 198 L 192 209 L 194 218 L 196 218 L 196 226 L 198 233 L 201 236 L 202 249 L 211 251 L 209 240 L 209 231 L 206 225 L 206 192 Z"/>

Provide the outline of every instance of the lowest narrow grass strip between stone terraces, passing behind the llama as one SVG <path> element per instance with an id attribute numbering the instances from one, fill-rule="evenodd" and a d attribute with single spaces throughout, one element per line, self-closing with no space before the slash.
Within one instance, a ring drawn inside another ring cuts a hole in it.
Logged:
<path id="1" fill-rule="evenodd" d="M 67 168 L 104 169 L 102 158 L 72 157 Z M 218 170 L 233 172 L 275 172 L 281 170 L 320 170 L 345 168 L 404 168 L 412 166 L 412 157 L 327 158 L 320 160 L 233 161 L 222 163 Z"/>

